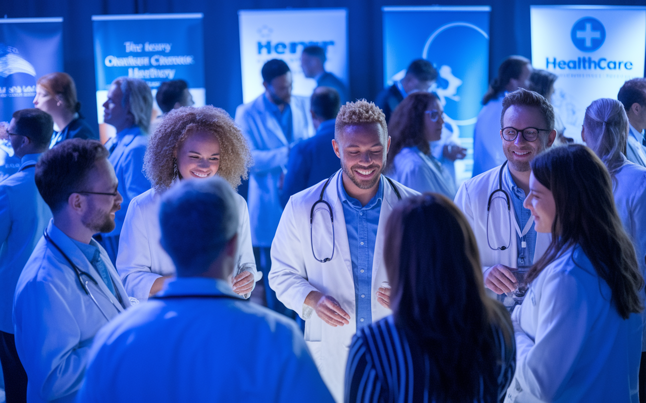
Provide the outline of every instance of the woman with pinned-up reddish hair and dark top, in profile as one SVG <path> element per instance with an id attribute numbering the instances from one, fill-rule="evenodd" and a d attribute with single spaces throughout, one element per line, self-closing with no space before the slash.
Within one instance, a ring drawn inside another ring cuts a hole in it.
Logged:
<path id="1" fill-rule="evenodd" d="M 81 103 L 76 97 L 76 84 L 67 74 L 45 74 L 36 82 L 34 106 L 52 115 L 55 130 L 50 148 L 67 139 L 94 139 L 99 135 L 90 128 L 81 116 Z"/>

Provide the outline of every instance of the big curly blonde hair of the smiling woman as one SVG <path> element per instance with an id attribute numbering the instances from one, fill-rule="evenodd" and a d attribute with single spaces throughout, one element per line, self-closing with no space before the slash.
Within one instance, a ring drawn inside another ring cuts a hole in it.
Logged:
<path id="1" fill-rule="evenodd" d="M 187 137 L 198 130 L 213 133 L 220 143 L 218 176 L 235 190 L 241 179 L 247 179 L 252 164 L 251 152 L 244 135 L 227 112 L 211 105 L 171 110 L 152 133 L 143 171 L 155 192 L 163 192 L 177 177 L 174 153 Z"/>

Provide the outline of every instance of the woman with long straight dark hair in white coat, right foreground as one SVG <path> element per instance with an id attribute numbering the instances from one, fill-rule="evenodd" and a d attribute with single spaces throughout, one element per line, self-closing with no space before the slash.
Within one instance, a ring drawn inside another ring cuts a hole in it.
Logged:
<path id="1" fill-rule="evenodd" d="M 552 242 L 514 310 L 506 402 L 637 402 L 643 277 L 603 162 L 581 144 L 532 161 L 536 231 Z"/>

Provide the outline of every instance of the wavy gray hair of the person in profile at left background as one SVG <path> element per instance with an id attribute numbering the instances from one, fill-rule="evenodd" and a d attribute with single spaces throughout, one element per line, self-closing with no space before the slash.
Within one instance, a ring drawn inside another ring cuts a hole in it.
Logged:
<path id="1" fill-rule="evenodd" d="M 152 92 L 151 88 L 141 79 L 130 77 L 117 77 L 112 84 L 121 88 L 123 97 L 121 106 L 129 107 L 129 112 L 134 118 L 134 124 L 139 126 L 142 132 L 148 133 L 152 117 Z"/>

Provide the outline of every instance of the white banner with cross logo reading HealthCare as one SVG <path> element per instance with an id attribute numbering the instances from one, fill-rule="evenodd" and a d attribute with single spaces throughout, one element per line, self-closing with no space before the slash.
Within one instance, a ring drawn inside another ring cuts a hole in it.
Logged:
<path id="1" fill-rule="evenodd" d="M 531 6 L 532 65 L 558 75 L 552 104 L 581 142 L 585 108 L 643 77 L 646 7 Z"/>

